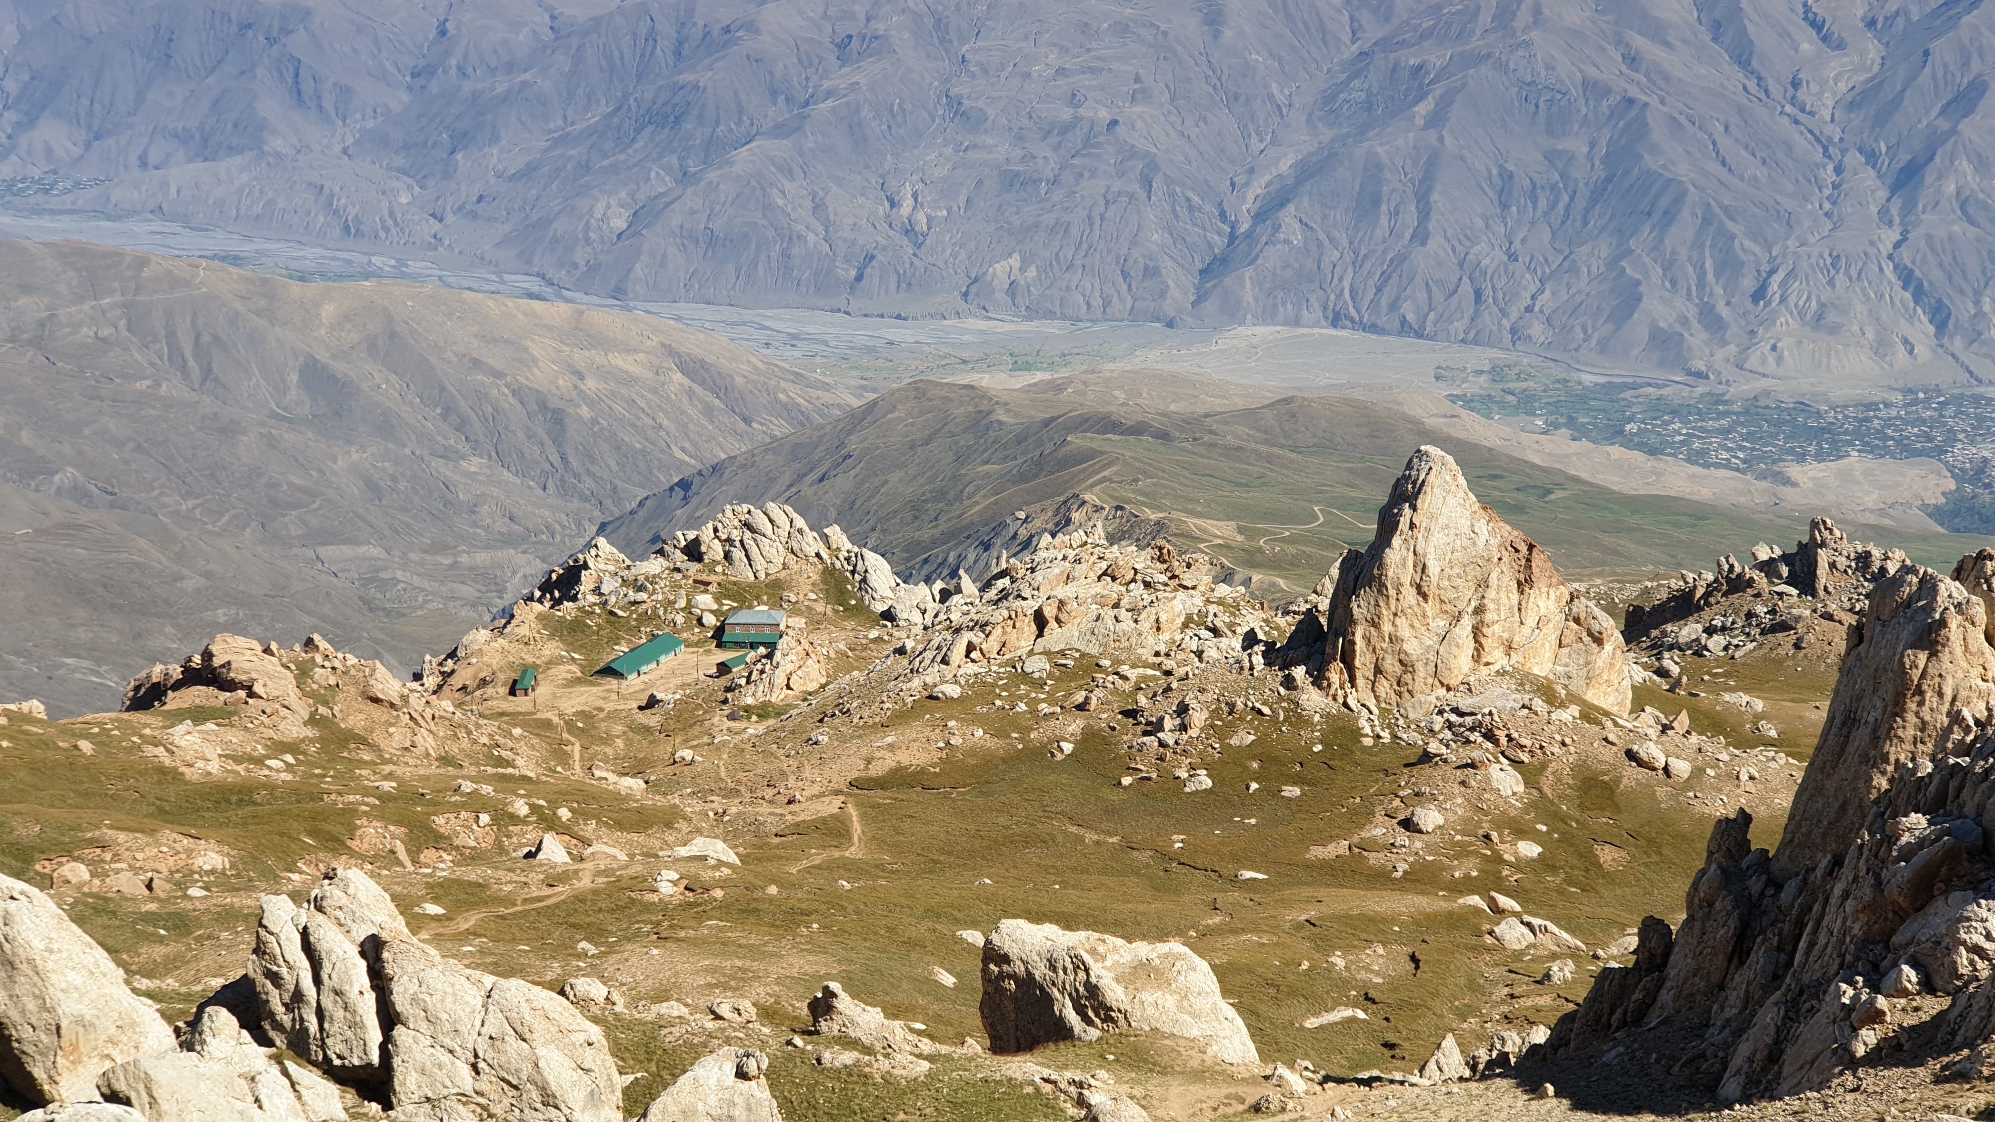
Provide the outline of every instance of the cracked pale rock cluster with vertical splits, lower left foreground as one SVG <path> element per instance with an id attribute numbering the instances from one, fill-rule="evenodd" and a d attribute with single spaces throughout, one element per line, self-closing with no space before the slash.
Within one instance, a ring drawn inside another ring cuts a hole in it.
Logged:
<path id="1" fill-rule="evenodd" d="M 385 1084 L 397 1118 L 622 1116 L 595 1024 L 539 986 L 441 958 L 363 872 L 339 870 L 303 908 L 265 896 L 249 976 L 273 1040 L 341 1078 Z"/>

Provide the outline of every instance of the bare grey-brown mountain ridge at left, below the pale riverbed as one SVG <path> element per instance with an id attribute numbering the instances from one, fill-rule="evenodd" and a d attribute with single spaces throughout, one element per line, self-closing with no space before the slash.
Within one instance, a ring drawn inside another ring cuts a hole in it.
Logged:
<path id="1" fill-rule="evenodd" d="M 604 515 L 850 401 L 640 315 L 0 242 L 0 695 L 116 701 L 217 621 L 403 665 Z M 393 625 L 425 611 L 451 619 Z"/>

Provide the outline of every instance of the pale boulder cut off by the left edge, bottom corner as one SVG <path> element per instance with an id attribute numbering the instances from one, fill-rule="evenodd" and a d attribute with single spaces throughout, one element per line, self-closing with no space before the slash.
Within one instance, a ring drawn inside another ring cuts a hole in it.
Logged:
<path id="1" fill-rule="evenodd" d="M 16 1094 L 96 1098 L 106 1068 L 176 1048 L 102 946 L 38 888 L 0 876 L 0 1078 Z"/>

